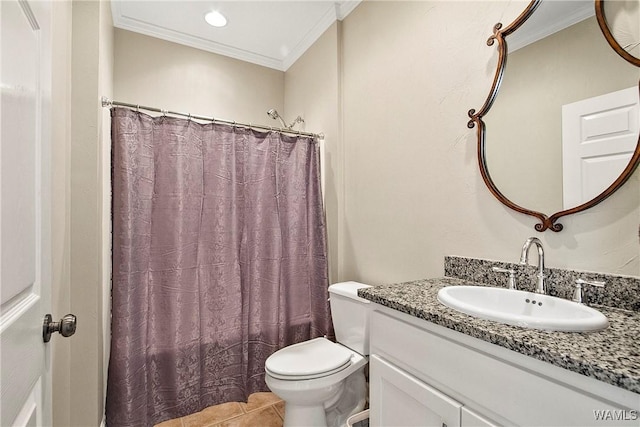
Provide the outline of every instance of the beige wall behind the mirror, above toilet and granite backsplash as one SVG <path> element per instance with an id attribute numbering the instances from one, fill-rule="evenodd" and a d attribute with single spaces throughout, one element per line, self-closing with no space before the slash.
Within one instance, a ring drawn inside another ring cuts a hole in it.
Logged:
<path id="1" fill-rule="evenodd" d="M 589 211 L 534 231 L 476 164 L 479 108 L 495 69 L 486 40 L 526 2 L 373 2 L 342 23 L 345 256 L 341 279 L 439 276 L 445 255 L 516 262 L 529 236 L 547 265 L 638 275 L 638 174 Z"/>

